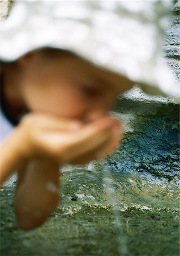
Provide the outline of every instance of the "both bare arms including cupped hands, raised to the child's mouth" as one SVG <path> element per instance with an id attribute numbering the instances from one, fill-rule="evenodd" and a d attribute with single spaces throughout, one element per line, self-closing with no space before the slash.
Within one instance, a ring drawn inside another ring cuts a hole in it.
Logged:
<path id="1" fill-rule="evenodd" d="M 1 164 L 1 181 L 18 170 L 15 211 L 20 228 L 36 228 L 57 207 L 59 164 L 104 158 L 117 146 L 119 128 L 110 117 L 78 129 L 77 122 L 47 115 L 24 119 L 3 144 Z"/>

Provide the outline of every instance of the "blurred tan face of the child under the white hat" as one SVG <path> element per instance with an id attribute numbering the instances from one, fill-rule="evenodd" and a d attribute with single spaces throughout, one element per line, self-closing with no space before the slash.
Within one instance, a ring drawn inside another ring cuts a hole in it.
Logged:
<path id="1" fill-rule="evenodd" d="M 106 114 L 119 93 L 106 71 L 75 56 L 47 60 L 34 53 L 27 63 L 22 93 L 32 111 L 88 122 Z"/>

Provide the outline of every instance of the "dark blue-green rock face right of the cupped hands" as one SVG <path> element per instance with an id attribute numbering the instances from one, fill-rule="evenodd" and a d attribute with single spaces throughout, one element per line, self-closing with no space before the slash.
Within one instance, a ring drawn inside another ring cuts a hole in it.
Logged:
<path id="1" fill-rule="evenodd" d="M 118 109 L 124 122 L 127 117 L 131 121 L 122 147 L 108 159 L 112 170 L 138 174 L 152 183 L 170 180 L 176 184 L 180 167 L 179 106 L 122 99 L 114 108 Z"/>

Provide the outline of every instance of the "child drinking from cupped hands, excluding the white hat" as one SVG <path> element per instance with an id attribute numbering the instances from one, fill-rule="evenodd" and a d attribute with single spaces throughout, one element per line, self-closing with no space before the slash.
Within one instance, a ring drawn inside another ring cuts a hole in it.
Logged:
<path id="1" fill-rule="evenodd" d="M 110 154 L 122 139 L 108 110 L 133 82 L 55 48 L 29 52 L 1 68 L 2 122 L 16 125 L 2 143 L 1 183 L 18 172 L 20 228 L 41 225 L 59 203 L 59 166 Z"/>

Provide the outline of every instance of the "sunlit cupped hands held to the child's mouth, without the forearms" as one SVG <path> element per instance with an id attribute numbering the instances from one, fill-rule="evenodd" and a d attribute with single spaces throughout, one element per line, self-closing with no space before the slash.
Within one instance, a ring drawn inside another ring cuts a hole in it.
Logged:
<path id="1" fill-rule="evenodd" d="M 25 157 L 50 158 L 60 164 L 104 158 L 122 137 L 121 125 L 109 116 L 83 125 L 75 120 L 32 113 L 23 118 L 18 129 Z"/>

